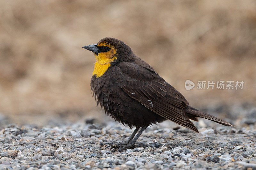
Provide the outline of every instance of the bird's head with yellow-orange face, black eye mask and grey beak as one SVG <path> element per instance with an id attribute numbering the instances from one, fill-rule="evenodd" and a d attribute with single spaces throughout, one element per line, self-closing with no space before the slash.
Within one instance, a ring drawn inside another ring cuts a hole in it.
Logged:
<path id="1" fill-rule="evenodd" d="M 97 44 L 84 46 L 83 48 L 92 51 L 96 62 L 99 64 L 124 61 L 127 55 L 132 53 L 132 49 L 123 41 L 110 37 L 103 38 Z"/>

